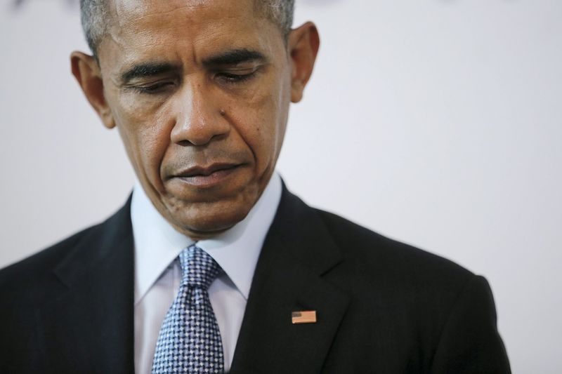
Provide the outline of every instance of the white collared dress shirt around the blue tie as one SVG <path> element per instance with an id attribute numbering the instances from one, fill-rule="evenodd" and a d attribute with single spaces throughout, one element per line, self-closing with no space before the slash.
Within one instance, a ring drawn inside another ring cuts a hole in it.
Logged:
<path id="1" fill-rule="evenodd" d="M 263 241 L 281 199 L 281 178 L 273 173 L 266 189 L 244 220 L 213 239 L 197 242 L 225 274 L 209 287 L 221 331 L 225 371 L 230 370 Z M 181 281 L 179 253 L 192 241 L 177 232 L 137 182 L 131 201 L 135 243 L 135 372 L 150 374 L 158 334 Z"/>

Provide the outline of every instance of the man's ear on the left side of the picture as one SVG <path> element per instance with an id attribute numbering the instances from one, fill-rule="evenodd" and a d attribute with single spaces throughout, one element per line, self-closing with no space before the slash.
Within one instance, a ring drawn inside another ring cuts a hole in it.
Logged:
<path id="1" fill-rule="evenodd" d="M 114 128 L 115 121 L 105 100 L 100 66 L 96 59 L 91 55 L 74 51 L 70 55 L 70 66 L 72 67 L 72 75 L 78 81 L 93 109 L 100 116 L 104 126 Z"/>

